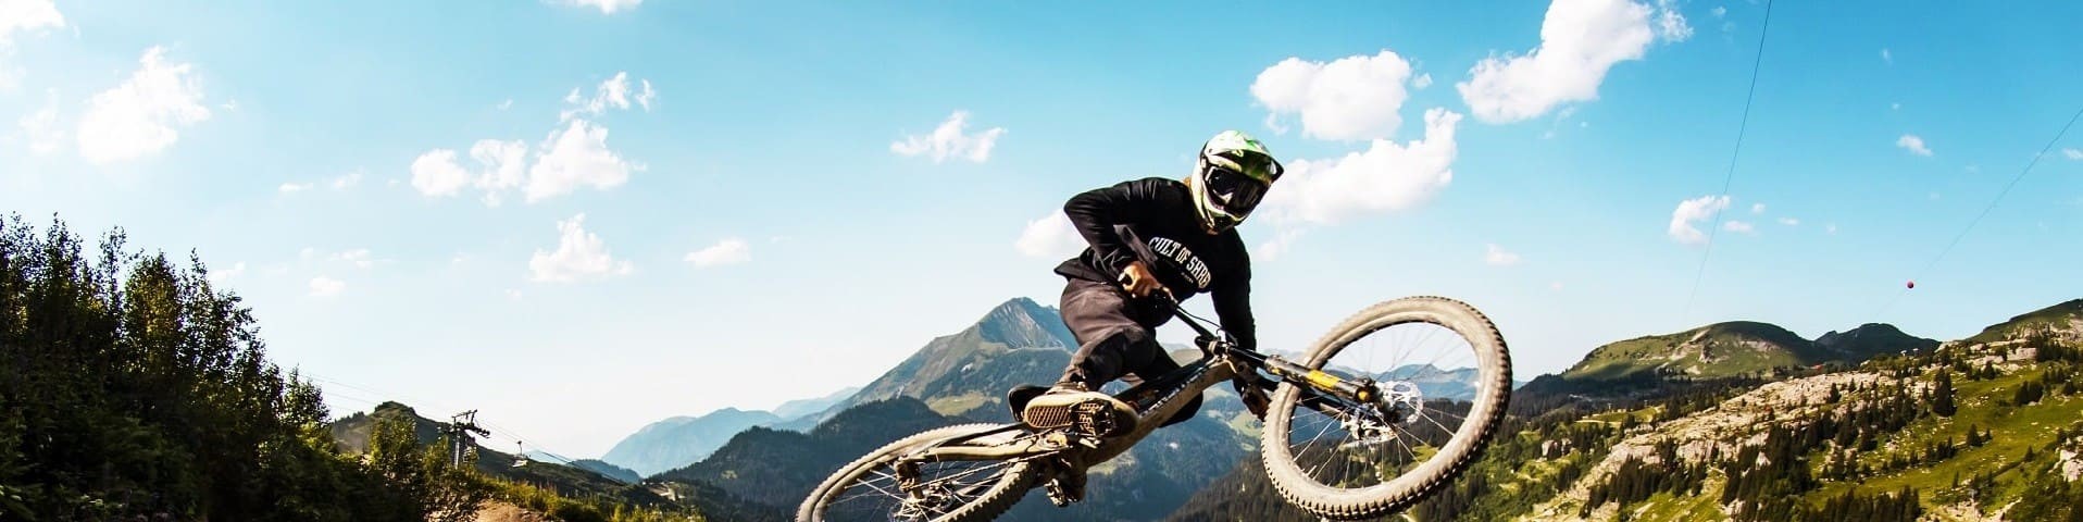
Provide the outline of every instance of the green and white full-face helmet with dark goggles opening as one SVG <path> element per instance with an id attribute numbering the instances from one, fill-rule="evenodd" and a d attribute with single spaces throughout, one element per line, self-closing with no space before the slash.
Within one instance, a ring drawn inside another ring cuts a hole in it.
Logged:
<path id="1" fill-rule="evenodd" d="M 1200 146 L 1187 187 L 1202 225 L 1221 233 L 1244 223 L 1277 179 L 1281 162 L 1273 160 L 1264 143 L 1239 131 L 1223 131 Z"/>

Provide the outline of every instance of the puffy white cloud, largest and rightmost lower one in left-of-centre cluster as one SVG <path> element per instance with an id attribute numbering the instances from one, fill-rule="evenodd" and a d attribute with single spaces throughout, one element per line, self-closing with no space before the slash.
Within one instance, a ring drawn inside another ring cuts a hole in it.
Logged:
<path id="1" fill-rule="evenodd" d="M 560 131 L 550 131 L 535 152 L 535 166 L 527 171 L 527 202 L 560 195 L 589 185 L 612 189 L 629 181 L 631 166 L 623 156 L 608 150 L 608 127 L 571 121 Z"/>

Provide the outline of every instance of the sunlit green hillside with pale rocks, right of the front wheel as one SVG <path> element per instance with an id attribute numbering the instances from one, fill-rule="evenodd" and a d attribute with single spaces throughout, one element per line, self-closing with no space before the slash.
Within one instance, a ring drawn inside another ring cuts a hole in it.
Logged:
<path id="1" fill-rule="evenodd" d="M 1466 474 L 1406 514 L 1412 520 L 2077 520 L 2083 518 L 2083 337 L 2046 331 L 2041 312 L 1989 327 L 2031 333 L 1993 339 L 2004 343 L 1950 343 L 1908 356 L 1887 347 L 1898 356 L 1779 383 L 1712 381 L 1621 406 L 1579 401 L 1514 414 Z M 1893 337 L 1891 329 L 1871 327 L 1858 335 Z M 1633 341 L 1593 356 L 1612 358 L 1668 337 Z M 1829 341 L 1818 345 L 1854 343 Z M 1898 341 L 1904 339 L 1889 345 Z M 1239 466 L 1171 518 L 1314 520 L 1269 491 L 1262 474 Z"/>

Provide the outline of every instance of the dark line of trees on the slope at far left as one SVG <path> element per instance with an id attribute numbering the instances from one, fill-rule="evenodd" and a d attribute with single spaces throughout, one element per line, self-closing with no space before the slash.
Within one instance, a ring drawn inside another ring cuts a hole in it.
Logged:
<path id="1" fill-rule="evenodd" d="M 512 491 L 410 420 L 340 449 L 200 256 L 98 239 L 0 218 L 0 520 L 471 520 Z"/>

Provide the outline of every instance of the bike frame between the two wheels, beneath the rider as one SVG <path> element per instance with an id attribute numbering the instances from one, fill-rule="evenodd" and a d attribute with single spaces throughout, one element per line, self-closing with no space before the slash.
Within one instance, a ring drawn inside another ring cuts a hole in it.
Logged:
<path id="1" fill-rule="evenodd" d="M 1112 460 L 1129 447 L 1135 447 L 1144 437 L 1171 420 L 1185 408 L 1194 397 L 1198 397 L 1208 387 L 1221 385 L 1225 381 L 1239 381 L 1241 385 L 1260 387 L 1273 393 L 1277 383 L 1296 383 L 1304 397 L 1300 403 L 1323 410 L 1333 416 L 1344 416 L 1341 406 L 1371 403 L 1381 391 L 1371 379 L 1346 379 L 1335 372 L 1312 370 L 1302 364 L 1287 362 L 1279 356 L 1264 356 L 1252 349 L 1241 349 L 1227 337 L 1216 335 L 1206 324 L 1194 316 L 1179 310 L 1173 304 L 1173 316 L 1183 320 L 1200 337 L 1194 341 L 1200 347 L 1202 358 L 1181 366 L 1179 370 L 1166 372 L 1158 379 L 1150 379 L 1141 385 L 1129 387 L 1114 393 L 1116 399 L 1135 406 L 1135 430 L 1127 435 L 1116 435 L 1108 439 L 1081 439 L 1066 430 L 1042 430 L 1042 437 L 1021 437 L 1010 443 L 998 445 L 962 445 L 967 441 L 1027 430 L 1027 424 L 1004 424 L 992 430 L 973 433 L 964 437 L 954 437 L 925 447 L 906 460 L 914 462 L 962 462 L 962 460 L 1025 460 L 1025 458 L 1062 458 L 1066 464 L 1077 468 L 1089 468 L 1094 464 Z"/>

